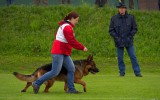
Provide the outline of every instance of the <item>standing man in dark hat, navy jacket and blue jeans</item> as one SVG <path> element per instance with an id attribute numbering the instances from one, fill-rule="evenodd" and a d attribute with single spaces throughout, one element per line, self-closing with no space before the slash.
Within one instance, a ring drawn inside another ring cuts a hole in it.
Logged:
<path id="1" fill-rule="evenodd" d="M 133 37 L 137 32 L 135 18 L 133 15 L 127 13 L 127 7 L 124 3 L 119 3 L 117 8 L 119 13 L 111 18 L 109 33 L 114 38 L 115 46 L 117 48 L 120 76 L 125 76 L 123 56 L 124 48 L 126 48 L 135 76 L 142 77 L 133 46 Z"/>

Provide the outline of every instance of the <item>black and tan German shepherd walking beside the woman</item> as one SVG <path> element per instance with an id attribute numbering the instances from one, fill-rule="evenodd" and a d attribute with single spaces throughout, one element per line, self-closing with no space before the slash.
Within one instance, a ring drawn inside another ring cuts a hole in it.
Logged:
<path id="1" fill-rule="evenodd" d="M 95 74 L 99 72 L 99 69 L 96 67 L 92 55 L 89 55 L 87 59 L 75 60 L 73 62 L 75 65 L 74 83 L 81 84 L 83 86 L 84 92 L 86 92 L 86 83 L 82 80 L 83 76 L 88 75 L 89 72 Z M 18 72 L 13 72 L 13 75 L 15 75 L 15 77 L 19 80 L 27 82 L 25 88 L 21 91 L 26 92 L 27 89 L 32 85 L 32 82 L 40 78 L 46 72 L 50 71 L 51 68 L 52 63 L 39 67 L 31 75 L 23 75 Z M 63 66 L 58 76 L 51 78 L 50 80 L 47 80 L 45 82 L 46 87 L 44 89 L 44 92 L 48 92 L 49 88 L 54 84 L 55 81 L 64 81 L 64 90 L 67 92 L 67 70 Z"/>

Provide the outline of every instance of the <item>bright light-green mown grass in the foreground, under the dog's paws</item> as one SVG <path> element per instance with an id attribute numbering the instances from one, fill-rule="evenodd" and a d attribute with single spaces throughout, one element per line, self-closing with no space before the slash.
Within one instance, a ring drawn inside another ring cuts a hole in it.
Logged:
<path id="1" fill-rule="evenodd" d="M 67 94 L 63 91 L 63 82 L 56 82 L 49 93 L 43 93 L 44 85 L 39 94 L 33 94 L 32 87 L 26 93 L 20 91 L 25 82 L 17 80 L 11 74 L 0 74 L 0 100 L 158 100 L 160 99 L 160 75 L 145 73 L 137 78 L 131 73 L 125 77 L 114 74 L 88 75 L 84 77 L 87 92 Z M 83 92 L 82 86 L 75 85 Z"/>

